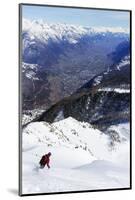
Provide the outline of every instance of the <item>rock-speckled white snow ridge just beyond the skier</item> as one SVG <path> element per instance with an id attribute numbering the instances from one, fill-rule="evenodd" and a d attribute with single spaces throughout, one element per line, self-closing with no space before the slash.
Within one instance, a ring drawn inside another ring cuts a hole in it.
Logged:
<path id="1" fill-rule="evenodd" d="M 33 146 L 38 143 L 54 147 L 64 146 L 85 150 L 92 157 L 102 159 L 105 153 L 108 153 L 107 137 L 99 130 L 93 129 L 90 124 L 78 122 L 69 117 L 53 124 L 46 122 L 29 124 L 23 134 L 23 149 L 25 151 L 31 145 Z M 95 145 L 98 146 L 97 149 Z"/>

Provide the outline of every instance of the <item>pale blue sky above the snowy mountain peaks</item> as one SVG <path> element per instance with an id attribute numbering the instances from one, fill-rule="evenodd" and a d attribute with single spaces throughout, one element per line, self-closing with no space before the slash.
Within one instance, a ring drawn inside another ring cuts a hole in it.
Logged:
<path id="1" fill-rule="evenodd" d="M 82 26 L 129 28 L 130 25 L 130 13 L 126 11 L 23 5 L 22 16 L 32 20 L 43 19 L 47 23 L 67 23 Z"/>

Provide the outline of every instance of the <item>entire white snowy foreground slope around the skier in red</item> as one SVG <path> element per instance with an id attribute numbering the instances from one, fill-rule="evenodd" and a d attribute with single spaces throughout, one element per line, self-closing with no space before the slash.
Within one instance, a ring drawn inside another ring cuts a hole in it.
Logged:
<path id="1" fill-rule="evenodd" d="M 110 137 L 71 117 L 23 130 L 23 194 L 129 187 L 129 124 L 110 127 L 124 137 L 110 150 Z M 39 160 L 52 152 L 51 168 Z"/>

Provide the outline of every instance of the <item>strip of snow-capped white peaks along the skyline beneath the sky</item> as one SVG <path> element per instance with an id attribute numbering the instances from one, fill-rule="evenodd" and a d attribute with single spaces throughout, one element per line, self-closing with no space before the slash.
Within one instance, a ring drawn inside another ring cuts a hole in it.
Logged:
<path id="1" fill-rule="evenodd" d="M 29 33 L 31 39 L 38 38 L 41 40 L 48 41 L 49 38 L 59 41 L 68 40 L 69 43 L 77 43 L 83 35 L 89 34 L 127 34 L 128 31 L 123 28 L 112 28 L 112 27 L 83 27 L 72 24 L 61 24 L 61 23 L 46 23 L 45 20 L 28 20 L 23 19 L 22 29 L 24 32 Z"/>

